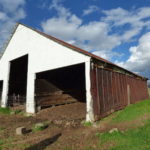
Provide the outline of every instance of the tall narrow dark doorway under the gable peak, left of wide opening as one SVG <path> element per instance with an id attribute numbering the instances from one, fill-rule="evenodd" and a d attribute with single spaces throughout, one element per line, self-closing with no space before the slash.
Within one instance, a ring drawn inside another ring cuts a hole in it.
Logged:
<path id="1" fill-rule="evenodd" d="M 8 105 L 23 105 L 26 102 L 28 55 L 10 61 Z"/>

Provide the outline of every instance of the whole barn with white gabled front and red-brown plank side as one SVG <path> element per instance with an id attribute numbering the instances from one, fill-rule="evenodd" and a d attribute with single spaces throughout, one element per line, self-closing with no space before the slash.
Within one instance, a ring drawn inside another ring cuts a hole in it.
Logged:
<path id="1" fill-rule="evenodd" d="M 147 99 L 147 78 L 18 23 L 0 60 L 0 97 L 27 113 L 80 101 L 95 121 Z"/>

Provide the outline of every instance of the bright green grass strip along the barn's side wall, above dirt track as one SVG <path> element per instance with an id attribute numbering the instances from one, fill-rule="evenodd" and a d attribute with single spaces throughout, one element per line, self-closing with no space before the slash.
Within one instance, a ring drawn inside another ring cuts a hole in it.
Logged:
<path id="1" fill-rule="evenodd" d="M 112 122 L 132 121 L 148 113 L 150 113 L 150 100 L 144 100 L 115 112 L 115 117 L 112 118 Z"/>

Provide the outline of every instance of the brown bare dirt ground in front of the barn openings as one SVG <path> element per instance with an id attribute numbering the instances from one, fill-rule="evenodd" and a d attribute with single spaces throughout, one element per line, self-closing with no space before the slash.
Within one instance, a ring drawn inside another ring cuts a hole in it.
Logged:
<path id="1" fill-rule="evenodd" d="M 0 114 L 0 127 L 4 128 L 0 130 L 0 140 L 6 140 L 2 150 L 85 150 L 86 147 L 97 150 L 96 133 L 116 127 L 125 130 L 142 123 L 141 120 L 136 120 L 128 124 L 113 125 L 109 124 L 109 120 L 105 120 L 93 126 L 85 126 L 81 123 L 84 119 L 84 103 L 43 109 L 30 117 L 23 114 Z M 32 132 L 33 126 L 41 122 L 48 123 L 48 127 L 43 131 Z M 29 132 L 18 136 L 15 130 L 21 126 L 26 127 Z"/>

